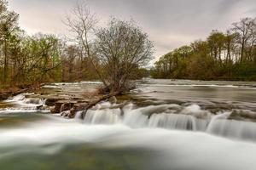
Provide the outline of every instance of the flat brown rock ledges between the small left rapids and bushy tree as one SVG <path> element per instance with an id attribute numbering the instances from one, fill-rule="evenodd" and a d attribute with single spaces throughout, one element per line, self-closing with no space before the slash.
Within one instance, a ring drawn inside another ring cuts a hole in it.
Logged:
<path id="1" fill-rule="evenodd" d="M 48 109 L 53 114 L 61 113 L 72 118 L 77 111 L 85 110 L 104 98 L 97 93 L 101 86 L 101 82 L 53 83 L 32 91 L 26 99 L 43 99 L 44 104 L 38 105 L 38 110 Z"/>

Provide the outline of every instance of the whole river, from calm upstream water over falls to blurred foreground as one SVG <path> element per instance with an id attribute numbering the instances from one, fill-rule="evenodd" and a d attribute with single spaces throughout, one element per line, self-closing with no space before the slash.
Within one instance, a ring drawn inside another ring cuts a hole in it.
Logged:
<path id="1" fill-rule="evenodd" d="M 44 88 L 80 93 L 99 85 Z M 37 111 L 45 100 L 30 95 L 0 102 L 0 169 L 256 168 L 256 82 L 144 79 L 83 120 L 81 112 L 65 119 Z"/>

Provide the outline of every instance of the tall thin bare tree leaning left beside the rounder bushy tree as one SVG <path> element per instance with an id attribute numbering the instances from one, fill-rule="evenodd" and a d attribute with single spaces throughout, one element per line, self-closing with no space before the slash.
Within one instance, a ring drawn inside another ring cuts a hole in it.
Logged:
<path id="1" fill-rule="evenodd" d="M 91 14 L 90 8 L 82 2 L 76 3 L 76 6 L 71 11 L 71 15 L 67 16 L 66 25 L 70 28 L 75 34 L 76 40 L 78 43 L 83 46 L 86 57 L 90 60 L 91 65 L 96 70 L 98 77 L 104 83 L 105 86 L 108 86 L 105 79 L 102 77 L 101 72 L 96 66 L 95 63 L 95 54 L 92 51 L 92 42 L 91 37 L 95 31 L 95 26 L 98 21 L 96 20 L 96 15 Z"/>

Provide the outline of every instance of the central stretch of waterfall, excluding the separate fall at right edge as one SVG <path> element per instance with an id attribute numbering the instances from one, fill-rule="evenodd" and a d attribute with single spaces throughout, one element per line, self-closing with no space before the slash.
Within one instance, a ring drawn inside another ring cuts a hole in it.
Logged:
<path id="1" fill-rule="evenodd" d="M 109 104 L 108 104 L 109 105 Z M 106 104 L 104 104 L 106 106 Z M 205 131 L 208 122 L 195 116 L 165 113 L 177 105 L 150 105 L 134 108 L 126 105 L 121 109 L 102 109 L 97 105 L 95 110 L 87 111 L 84 122 L 87 124 L 115 124 L 123 123 L 129 127 L 161 127 L 192 131 Z M 80 117 L 81 112 L 77 117 Z"/>

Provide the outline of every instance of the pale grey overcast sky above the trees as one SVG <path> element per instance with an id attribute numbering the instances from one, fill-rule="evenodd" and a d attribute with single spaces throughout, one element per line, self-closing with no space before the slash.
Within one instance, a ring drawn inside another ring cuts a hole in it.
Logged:
<path id="1" fill-rule="evenodd" d="M 80 0 L 83 1 L 83 0 Z M 9 0 L 30 34 L 68 34 L 65 16 L 77 0 Z M 226 31 L 233 22 L 256 17 L 255 0 L 84 0 L 101 26 L 114 16 L 135 20 L 154 42 L 155 58 L 174 48 L 205 39 L 212 30 Z"/>

